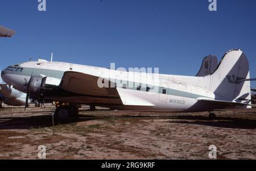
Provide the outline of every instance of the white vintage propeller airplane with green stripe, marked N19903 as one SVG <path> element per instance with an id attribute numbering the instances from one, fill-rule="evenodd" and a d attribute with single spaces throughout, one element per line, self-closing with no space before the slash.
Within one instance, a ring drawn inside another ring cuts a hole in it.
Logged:
<path id="1" fill-rule="evenodd" d="M 124 72 L 55 61 L 28 61 L 7 67 L 3 80 L 29 98 L 56 102 L 55 116 L 68 118 L 78 107 L 116 110 L 211 113 L 251 108 L 249 62 L 245 53 L 225 53 L 215 70 L 202 76 Z"/>

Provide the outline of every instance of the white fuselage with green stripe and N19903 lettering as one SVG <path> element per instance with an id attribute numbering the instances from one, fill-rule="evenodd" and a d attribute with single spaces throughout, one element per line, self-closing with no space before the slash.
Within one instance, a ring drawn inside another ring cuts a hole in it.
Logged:
<path id="1" fill-rule="evenodd" d="M 67 71 L 122 82 L 122 86 L 117 87 L 122 103 L 108 98 L 86 97 L 86 95 L 76 98 L 47 97 L 54 101 L 80 104 L 93 103 L 118 110 L 207 111 L 212 110 L 212 107 L 198 104 L 197 98 L 214 99 L 221 97 L 221 95 L 216 95 L 210 90 L 210 77 L 208 82 L 203 82 L 201 77 L 122 72 L 94 66 L 48 61 L 30 61 L 12 67 L 20 68 L 20 70 L 18 72 L 15 72 L 15 69 L 4 70 L 2 78 L 7 84 L 13 85 L 15 89 L 24 93 L 26 93 L 24 82 L 28 82 L 31 76 L 41 75 L 55 78 L 55 84 L 59 85 L 64 72 Z M 56 80 L 59 80 L 59 82 Z M 130 83 L 133 85 L 135 83 L 137 86 L 129 87 Z M 138 84 L 145 85 L 145 87 L 142 86 L 141 90 L 138 91 L 136 89 Z M 147 86 L 150 86 L 151 89 L 148 90 Z M 152 86 L 154 87 L 152 88 Z M 225 97 L 222 98 L 225 99 Z M 138 102 L 139 105 L 136 105 L 134 101 Z"/>

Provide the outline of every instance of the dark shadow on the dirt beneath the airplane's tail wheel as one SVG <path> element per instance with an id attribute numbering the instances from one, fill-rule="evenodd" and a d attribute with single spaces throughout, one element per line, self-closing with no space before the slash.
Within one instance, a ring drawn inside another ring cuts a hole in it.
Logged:
<path id="1" fill-rule="evenodd" d="M 174 116 L 174 118 L 181 120 L 168 121 L 168 123 L 197 124 L 201 126 L 246 130 L 253 130 L 256 128 L 256 120 L 251 119 L 217 117 L 215 120 L 210 120 L 208 116 Z"/>

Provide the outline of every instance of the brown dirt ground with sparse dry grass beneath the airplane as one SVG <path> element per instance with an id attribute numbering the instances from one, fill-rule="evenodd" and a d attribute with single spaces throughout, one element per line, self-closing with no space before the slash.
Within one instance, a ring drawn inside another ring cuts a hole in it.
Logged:
<path id="1" fill-rule="evenodd" d="M 256 159 L 256 109 L 168 114 L 80 109 L 79 119 L 55 123 L 51 105 L 0 109 L 0 159 Z"/>

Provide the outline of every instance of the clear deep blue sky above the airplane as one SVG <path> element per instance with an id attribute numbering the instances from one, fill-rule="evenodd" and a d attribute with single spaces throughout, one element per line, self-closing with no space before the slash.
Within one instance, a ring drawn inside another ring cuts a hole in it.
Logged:
<path id="1" fill-rule="evenodd" d="M 240 47 L 256 77 L 256 1 L 0 0 L 0 25 L 16 35 L 0 39 L 0 68 L 30 57 L 110 67 L 159 67 L 193 76 L 203 57 L 220 60 Z M 252 84 L 256 87 L 256 82 Z"/>

